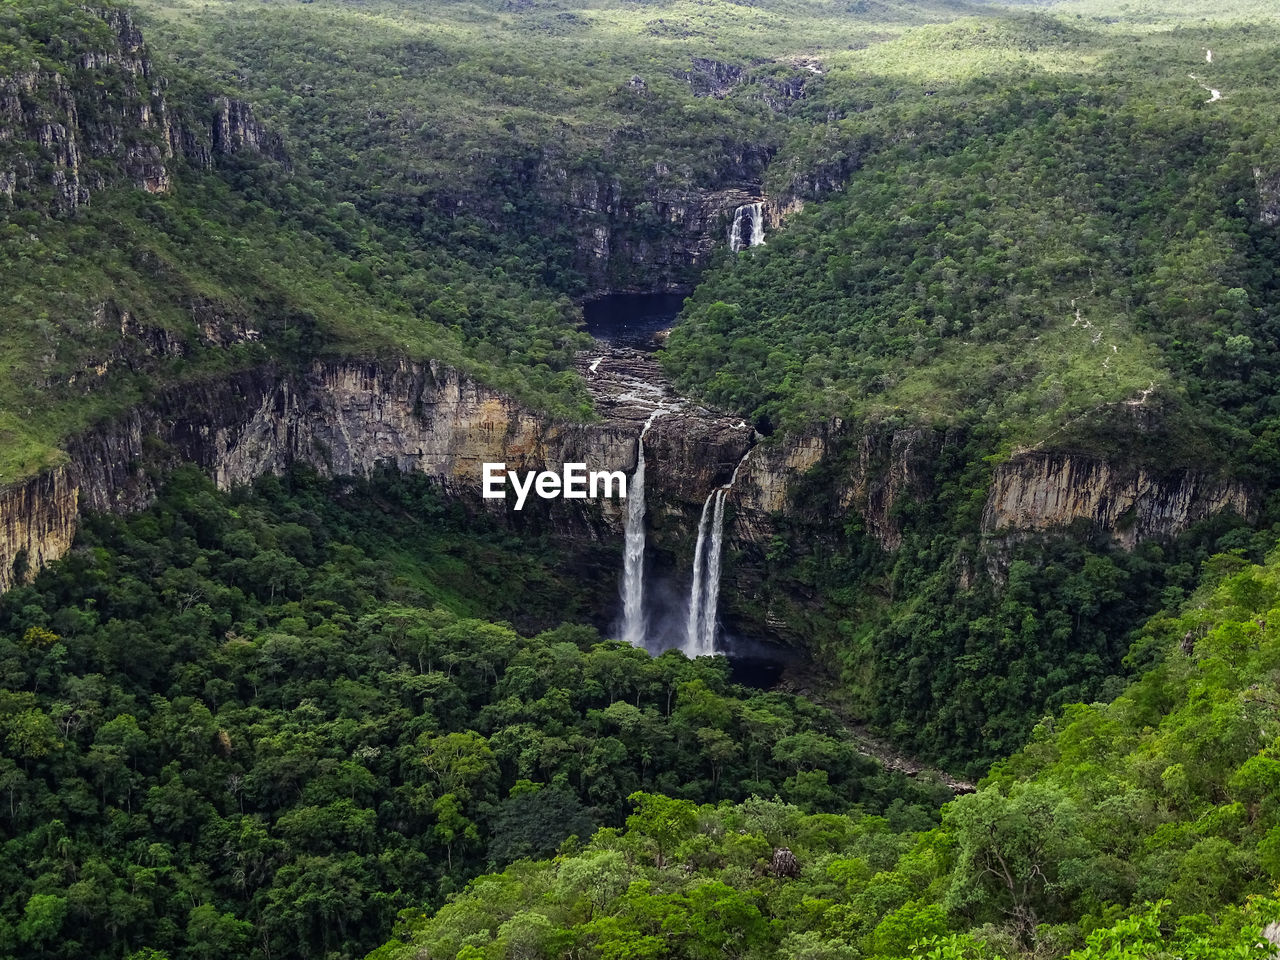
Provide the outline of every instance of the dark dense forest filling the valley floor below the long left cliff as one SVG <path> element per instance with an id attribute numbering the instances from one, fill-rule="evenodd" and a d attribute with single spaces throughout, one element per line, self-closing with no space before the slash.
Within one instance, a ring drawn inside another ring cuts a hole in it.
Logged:
<path id="1" fill-rule="evenodd" d="M 184 472 L 0 600 L 0 952 L 358 956 L 637 790 L 901 826 L 945 795 L 723 659 L 457 612 L 572 607 L 422 483 L 335 489 Z"/>

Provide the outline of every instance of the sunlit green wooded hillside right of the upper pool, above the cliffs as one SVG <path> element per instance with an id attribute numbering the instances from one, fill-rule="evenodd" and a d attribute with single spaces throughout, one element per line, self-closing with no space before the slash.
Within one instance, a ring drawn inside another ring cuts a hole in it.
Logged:
<path id="1" fill-rule="evenodd" d="M 867 155 L 844 196 L 710 274 L 669 369 L 772 424 L 960 422 L 992 448 L 1082 443 L 1146 396 L 1199 438 L 1164 457 L 1216 429 L 1248 458 L 1280 364 L 1267 128 L 1169 95 L 1121 69 L 984 78 L 846 119 Z"/>

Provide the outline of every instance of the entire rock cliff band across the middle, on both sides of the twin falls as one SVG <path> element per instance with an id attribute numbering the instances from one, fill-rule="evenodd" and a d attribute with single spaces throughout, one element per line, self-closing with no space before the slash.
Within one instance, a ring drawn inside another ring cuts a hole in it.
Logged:
<path id="1" fill-rule="evenodd" d="M 70 548 L 79 508 L 141 509 L 157 477 L 179 463 L 200 466 L 221 488 L 293 465 L 330 476 L 394 465 L 434 477 L 476 508 L 504 513 L 511 502 L 480 497 L 483 463 L 534 470 L 584 462 L 630 475 L 637 436 L 658 408 L 645 438 L 646 486 L 666 549 L 692 538 L 708 494 L 741 462 L 735 521 L 726 530 L 731 540 L 759 549 L 780 516 L 820 538 L 856 513 L 869 536 L 895 550 L 904 532 L 899 507 L 932 495 L 940 454 L 957 439 L 899 429 L 850 440 L 837 421 L 806 436 L 758 443 L 741 420 L 676 397 L 653 357 L 620 349 L 594 367 L 585 356 L 580 369 L 602 415 L 594 424 L 549 421 L 434 362 L 326 361 L 301 372 L 260 367 L 174 388 L 70 443 L 65 465 L 0 490 L 0 590 Z M 1156 475 L 1036 453 L 995 471 L 982 530 L 1009 538 L 1083 520 L 1132 548 L 1224 509 L 1251 516 L 1249 492 L 1196 471 Z M 621 500 L 557 500 L 526 511 L 568 538 L 622 532 Z"/>

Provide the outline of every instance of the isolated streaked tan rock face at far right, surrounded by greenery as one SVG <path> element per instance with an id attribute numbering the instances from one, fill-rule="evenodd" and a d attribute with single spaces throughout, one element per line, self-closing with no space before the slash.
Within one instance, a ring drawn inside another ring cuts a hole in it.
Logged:
<path id="1" fill-rule="evenodd" d="M 1193 470 L 1155 474 L 1088 457 L 1029 453 L 996 468 L 982 529 L 998 535 L 1083 520 L 1133 548 L 1225 509 L 1252 516 L 1243 484 Z"/>

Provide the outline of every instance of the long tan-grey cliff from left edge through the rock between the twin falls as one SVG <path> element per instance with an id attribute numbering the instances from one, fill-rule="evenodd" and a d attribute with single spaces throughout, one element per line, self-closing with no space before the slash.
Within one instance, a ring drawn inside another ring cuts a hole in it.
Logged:
<path id="1" fill-rule="evenodd" d="M 223 488 L 294 465 L 329 476 L 393 465 L 499 512 L 511 504 L 480 497 L 485 462 L 511 470 L 582 462 L 630 474 L 644 420 L 673 398 L 622 370 L 598 367 L 593 380 L 604 411 L 593 424 L 549 421 L 434 362 L 317 361 L 303 371 L 269 366 L 186 384 L 77 438 L 56 470 L 0 490 L 0 589 L 69 549 L 78 509 L 141 509 L 179 463 L 197 465 Z M 673 411 L 650 433 L 650 456 L 663 462 L 650 479 L 655 495 L 678 500 L 696 488 L 705 497 L 727 479 L 750 433 L 710 411 Z M 622 502 L 607 499 L 556 500 L 541 516 L 567 535 L 594 539 L 621 535 L 623 521 Z"/>

